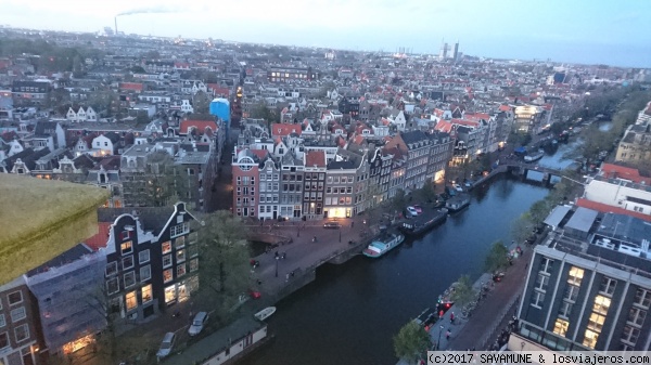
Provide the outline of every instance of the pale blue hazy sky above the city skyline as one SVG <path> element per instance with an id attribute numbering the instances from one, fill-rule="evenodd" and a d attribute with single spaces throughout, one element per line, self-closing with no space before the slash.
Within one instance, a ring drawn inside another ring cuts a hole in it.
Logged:
<path id="1" fill-rule="evenodd" d="M 0 24 L 651 67 L 646 0 L 1 0 Z M 129 14 L 129 15 L 126 15 Z"/>

